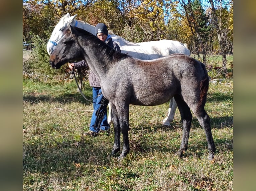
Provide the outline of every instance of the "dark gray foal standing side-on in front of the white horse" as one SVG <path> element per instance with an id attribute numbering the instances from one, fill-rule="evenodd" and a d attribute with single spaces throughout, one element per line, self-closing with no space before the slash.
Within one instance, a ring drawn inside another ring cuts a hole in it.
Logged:
<path id="1" fill-rule="evenodd" d="M 118 53 L 91 33 L 72 27 L 58 43 L 50 56 L 50 65 L 59 69 L 72 60 L 84 59 L 100 79 L 102 94 L 112 107 L 115 140 L 112 155 L 120 150 L 120 132 L 124 158 L 129 147 L 129 104 L 159 105 L 174 96 L 183 123 L 181 145 L 176 155 L 187 149 L 192 114 L 204 128 L 209 148 L 209 159 L 216 151 L 210 117 L 204 107 L 209 86 L 205 65 L 183 54 L 172 54 L 150 61 L 134 59 Z"/>

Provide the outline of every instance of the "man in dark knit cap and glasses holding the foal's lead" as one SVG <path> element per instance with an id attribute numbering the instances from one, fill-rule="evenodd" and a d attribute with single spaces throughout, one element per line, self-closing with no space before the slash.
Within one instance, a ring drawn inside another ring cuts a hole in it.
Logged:
<path id="1" fill-rule="evenodd" d="M 112 41 L 111 36 L 108 34 L 107 26 L 104 23 L 98 23 L 96 25 L 95 34 L 101 41 L 105 42 L 107 45 L 109 45 L 116 51 L 121 52 L 120 47 L 114 41 Z M 88 68 L 88 65 L 85 62 L 85 60 L 82 60 L 82 61 L 76 62 L 76 63 L 69 63 L 69 68 L 71 70 L 73 68 L 74 69 Z M 100 87 L 99 79 L 96 77 L 96 75 L 93 72 L 90 72 L 90 74 L 89 74 L 89 83 L 90 83 L 90 86 L 93 87 L 93 98 L 95 98 L 95 97 L 96 98 L 93 100 L 93 110 L 94 111 L 92 114 L 89 131 L 84 133 L 84 135 L 85 136 L 89 135 L 89 136 L 95 137 L 98 135 L 99 131 L 108 131 L 110 128 L 110 125 L 108 124 L 108 120 L 107 120 L 107 104 L 105 104 L 100 109 L 102 112 L 104 112 L 104 116 L 103 116 L 103 120 L 101 121 L 100 128 L 97 131 L 94 129 L 94 124 L 97 119 L 96 111 L 99 109 L 104 96 L 101 94 L 101 87 Z M 99 94 L 101 94 L 101 95 L 99 95 Z M 99 96 L 97 97 L 97 95 L 99 95 Z"/>

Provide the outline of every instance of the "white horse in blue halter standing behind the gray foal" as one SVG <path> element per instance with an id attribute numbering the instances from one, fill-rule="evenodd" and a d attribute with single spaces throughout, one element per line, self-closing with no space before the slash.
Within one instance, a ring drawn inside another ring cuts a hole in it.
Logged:
<path id="1" fill-rule="evenodd" d="M 76 20 L 75 19 L 76 16 L 77 14 L 74 16 L 70 16 L 70 14 L 67 13 L 65 16 L 61 17 L 60 21 L 57 23 L 57 25 L 53 29 L 50 39 L 46 46 L 47 52 L 49 55 L 51 55 L 55 46 L 63 37 L 63 31 L 64 29 L 67 28 L 68 23 L 71 26 L 76 26 L 92 34 L 95 34 L 95 26 L 92 26 L 81 20 Z M 174 53 L 186 54 L 188 56 L 190 55 L 190 51 L 187 49 L 186 45 L 178 41 L 160 40 L 160 41 L 150 41 L 150 42 L 143 42 L 143 43 L 133 43 L 125 40 L 120 36 L 115 35 L 112 31 L 109 31 L 109 34 L 112 40 L 119 45 L 122 53 L 128 53 L 128 55 L 132 56 L 133 58 L 137 58 L 140 60 L 152 60 L 152 59 L 168 56 Z M 170 122 L 173 121 L 176 108 L 177 108 L 177 104 L 174 98 L 170 99 L 168 114 L 167 114 L 167 117 L 165 117 L 163 120 L 163 125 L 170 126 Z M 109 104 L 108 123 L 109 124 L 112 123 L 110 104 Z"/>

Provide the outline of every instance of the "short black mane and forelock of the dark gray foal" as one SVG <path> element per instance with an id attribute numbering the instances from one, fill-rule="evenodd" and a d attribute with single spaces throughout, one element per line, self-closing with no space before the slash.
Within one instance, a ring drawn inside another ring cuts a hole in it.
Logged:
<path id="1" fill-rule="evenodd" d="M 120 53 L 118 51 L 116 51 L 115 49 L 111 48 L 109 45 L 107 45 L 105 42 L 101 41 L 100 39 L 98 39 L 95 35 L 93 35 L 92 33 L 78 28 L 78 27 L 74 27 L 79 33 L 82 33 L 85 35 L 85 40 L 86 41 L 91 41 L 93 44 L 96 44 L 99 47 L 100 52 L 102 52 L 104 55 L 104 57 L 110 57 L 114 62 L 118 61 L 118 60 L 122 60 L 125 59 L 127 57 L 130 57 L 127 53 L 123 54 Z M 71 35 L 71 32 L 69 30 L 69 28 L 67 28 L 64 32 L 63 35 Z"/>

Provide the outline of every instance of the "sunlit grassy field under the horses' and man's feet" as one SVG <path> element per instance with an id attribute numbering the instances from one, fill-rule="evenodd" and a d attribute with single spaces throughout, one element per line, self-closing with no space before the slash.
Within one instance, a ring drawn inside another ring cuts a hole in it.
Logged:
<path id="1" fill-rule="evenodd" d="M 193 117 L 184 157 L 176 111 L 162 127 L 168 103 L 130 106 L 130 153 L 110 157 L 111 134 L 83 137 L 92 103 L 76 92 L 74 80 L 23 80 L 23 190 L 233 190 L 233 79 L 210 84 L 205 109 L 217 148 L 208 160 L 204 130 Z M 92 96 L 85 82 L 85 95 Z M 121 138 L 122 150 L 122 138 Z M 121 151 L 119 152 L 119 154 Z"/>

